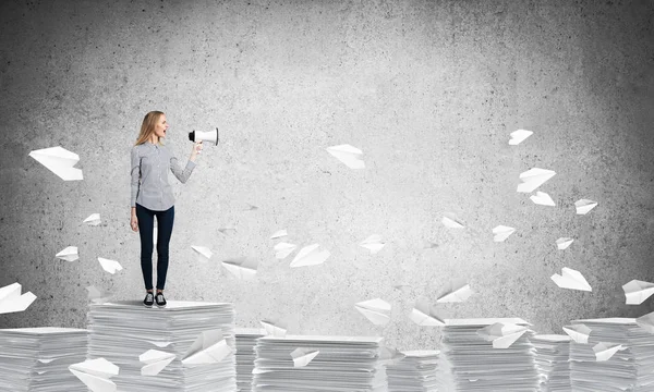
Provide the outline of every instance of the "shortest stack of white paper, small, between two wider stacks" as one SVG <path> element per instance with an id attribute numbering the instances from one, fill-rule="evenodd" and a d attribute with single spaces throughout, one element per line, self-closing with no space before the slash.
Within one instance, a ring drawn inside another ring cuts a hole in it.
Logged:
<path id="1" fill-rule="evenodd" d="M 402 352 L 402 359 L 386 365 L 388 392 L 438 391 L 439 353 L 433 350 Z"/>

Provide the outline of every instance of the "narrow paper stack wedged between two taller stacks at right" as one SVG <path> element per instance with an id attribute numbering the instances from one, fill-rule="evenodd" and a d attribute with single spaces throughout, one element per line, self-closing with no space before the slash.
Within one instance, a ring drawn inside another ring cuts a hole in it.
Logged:
<path id="1" fill-rule="evenodd" d="M 536 368 L 541 377 L 541 391 L 571 391 L 570 336 L 538 334 L 532 338 L 536 348 Z"/>

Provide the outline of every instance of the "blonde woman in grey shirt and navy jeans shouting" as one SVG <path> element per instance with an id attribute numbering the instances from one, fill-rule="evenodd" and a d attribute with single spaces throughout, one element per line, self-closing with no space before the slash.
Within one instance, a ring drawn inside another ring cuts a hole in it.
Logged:
<path id="1" fill-rule="evenodd" d="M 141 270 L 146 295 L 143 304 L 166 307 L 164 285 L 168 271 L 168 244 L 174 220 L 174 198 L 168 183 L 168 170 L 183 184 L 189 180 L 195 158 L 202 150 L 202 142 L 195 143 L 186 168 L 182 170 L 178 159 L 160 143 L 168 131 L 166 114 L 152 111 L 143 119 L 141 133 L 132 147 L 132 204 L 130 224 L 141 234 Z M 153 230 L 157 217 L 157 294 L 153 293 Z"/>

